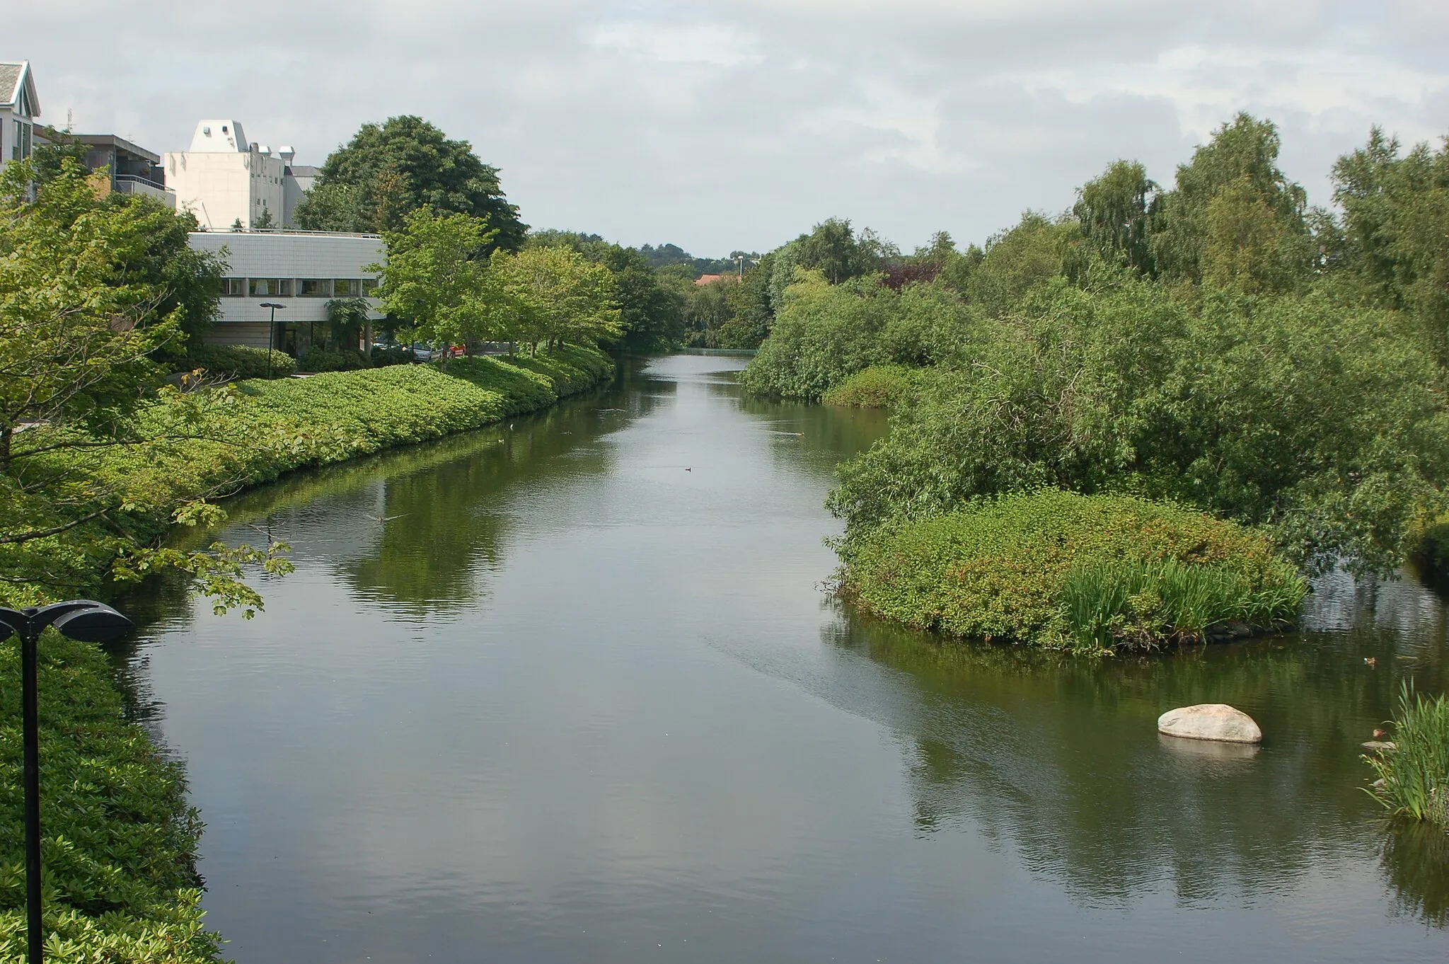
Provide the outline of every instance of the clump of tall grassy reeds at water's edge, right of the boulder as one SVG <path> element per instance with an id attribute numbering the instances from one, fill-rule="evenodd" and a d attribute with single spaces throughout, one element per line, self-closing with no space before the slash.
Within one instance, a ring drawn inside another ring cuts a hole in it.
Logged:
<path id="1" fill-rule="evenodd" d="M 1378 774 L 1372 796 L 1391 813 L 1449 829 L 1449 697 L 1424 697 L 1404 683 L 1394 748 L 1365 757 Z"/>

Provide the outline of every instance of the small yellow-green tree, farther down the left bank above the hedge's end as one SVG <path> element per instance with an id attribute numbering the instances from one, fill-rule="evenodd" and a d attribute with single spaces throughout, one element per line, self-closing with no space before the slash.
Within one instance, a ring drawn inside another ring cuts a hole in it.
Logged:
<path id="1" fill-rule="evenodd" d="M 623 333 L 613 274 L 571 248 L 496 251 L 493 270 L 516 341 L 597 344 Z"/>

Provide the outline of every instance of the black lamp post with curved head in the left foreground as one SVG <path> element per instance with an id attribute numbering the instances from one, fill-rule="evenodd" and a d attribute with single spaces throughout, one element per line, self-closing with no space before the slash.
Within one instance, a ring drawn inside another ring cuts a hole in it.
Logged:
<path id="1" fill-rule="evenodd" d="M 20 716 L 25 741 L 25 923 L 29 964 L 41 964 L 41 732 L 36 697 L 36 642 L 55 626 L 85 642 L 107 642 L 130 632 L 130 620 L 106 603 L 72 599 L 29 609 L 0 609 L 0 639 L 20 636 Z"/>

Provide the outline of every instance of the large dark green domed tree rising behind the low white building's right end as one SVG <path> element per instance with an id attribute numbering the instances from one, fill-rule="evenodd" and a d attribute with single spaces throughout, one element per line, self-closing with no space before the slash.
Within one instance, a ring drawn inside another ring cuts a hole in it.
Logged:
<path id="1" fill-rule="evenodd" d="M 467 141 L 452 141 L 422 117 L 365 123 L 333 151 L 317 183 L 297 207 L 297 223 L 313 230 L 397 232 L 409 213 L 487 220 L 487 246 L 517 249 L 527 225 L 498 184 L 498 168 L 484 164 Z"/>

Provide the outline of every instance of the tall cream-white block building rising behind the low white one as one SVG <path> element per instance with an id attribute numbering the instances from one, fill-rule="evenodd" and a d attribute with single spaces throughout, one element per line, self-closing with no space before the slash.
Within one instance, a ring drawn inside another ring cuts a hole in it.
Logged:
<path id="1" fill-rule="evenodd" d="M 291 228 L 316 175 L 316 168 L 294 171 L 293 157 L 288 146 L 272 155 L 270 146 L 248 141 L 236 120 L 201 120 L 191 148 L 168 151 L 161 167 L 177 210 L 191 212 L 207 230 L 230 230 L 236 222 L 251 230 L 268 220 L 272 228 Z"/>

